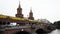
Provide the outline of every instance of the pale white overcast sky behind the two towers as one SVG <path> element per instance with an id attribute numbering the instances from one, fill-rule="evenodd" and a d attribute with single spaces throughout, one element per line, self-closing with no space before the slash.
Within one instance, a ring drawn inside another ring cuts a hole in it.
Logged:
<path id="1" fill-rule="evenodd" d="M 35 20 L 47 19 L 52 23 L 60 20 L 60 0 L 0 0 L 0 14 L 15 16 L 19 1 L 24 17 L 29 17 L 32 9 Z"/>

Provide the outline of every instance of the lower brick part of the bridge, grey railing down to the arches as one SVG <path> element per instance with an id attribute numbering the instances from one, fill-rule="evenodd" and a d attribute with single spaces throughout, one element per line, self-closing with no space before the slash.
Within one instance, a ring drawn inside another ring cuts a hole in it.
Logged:
<path id="1" fill-rule="evenodd" d="M 18 31 L 26 31 L 29 32 L 30 34 L 37 34 L 36 31 L 38 29 L 43 29 L 42 25 L 25 25 L 25 26 L 5 26 L 5 25 L 0 25 L 1 28 L 0 30 L 4 32 L 4 34 L 14 34 L 15 32 Z M 46 28 L 45 28 L 46 29 Z"/>

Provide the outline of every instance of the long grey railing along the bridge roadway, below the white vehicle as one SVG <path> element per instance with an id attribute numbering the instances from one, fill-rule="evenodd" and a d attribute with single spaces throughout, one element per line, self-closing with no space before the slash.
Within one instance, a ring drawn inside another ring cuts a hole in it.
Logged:
<path id="1" fill-rule="evenodd" d="M 14 28 L 35 28 L 35 27 L 43 27 L 43 25 L 38 24 L 38 25 L 15 25 L 15 26 L 11 26 L 11 25 L 0 25 L 0 29 L 14 29 Z"/>

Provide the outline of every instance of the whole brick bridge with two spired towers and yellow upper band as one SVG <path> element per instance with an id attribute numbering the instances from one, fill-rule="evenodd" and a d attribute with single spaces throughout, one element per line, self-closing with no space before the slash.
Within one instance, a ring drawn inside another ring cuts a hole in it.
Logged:
<path id="1" fill-rule="evenodd" d="M 39 31 L 41 29 L 45 31 L 47 30 L 47 27 L 43 25 L 46 23 L 34 20 L 32 9 L 30 10 L 28 19 L 24 18 L 20 3 L 17 8 L 17 14 L 15 16 L 16 17 L 0 15 L 0 31 L 2 34 L 14 34 L 16 32 L 22 31 L 29 34 L 37 34 L 36 31 Z M 12 25 L 12 23 L 16 23 L 16 25 Z"/>

